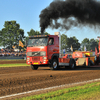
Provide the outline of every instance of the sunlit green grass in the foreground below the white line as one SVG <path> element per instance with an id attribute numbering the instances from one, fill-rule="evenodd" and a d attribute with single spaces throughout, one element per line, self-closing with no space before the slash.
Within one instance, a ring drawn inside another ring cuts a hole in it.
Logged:
<path id="1" fill-rule="evenodd" d="M 100 82 L 15 100 L 100 100 Z"/>

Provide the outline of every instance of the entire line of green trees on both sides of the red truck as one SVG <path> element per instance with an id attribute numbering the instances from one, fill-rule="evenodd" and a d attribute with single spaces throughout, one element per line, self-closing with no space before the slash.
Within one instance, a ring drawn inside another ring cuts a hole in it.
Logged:
<path id="1" fill-rule="evenodd" d="M 4 28 L 0 30 L 0 46 L 12 49 L 12 46 L 18 46 L 19 40 L 25 44 L 25 41 L 28 40 L 29 36 L 40 35 L 41 33 L 31 29 L 27 34 L 28 36 L 24 35 L 24 30 L 20 28 L 20 25 L 16 21 L 5 21 Z M 45 32 L 44 34 L 48 35 L 50 33 Z M 85 38 L 79 43 L 79 40 L 75 36 L 68 37 L 65 34 L 61 35 L 61 44 L 62 49 L 70 50 L 72 46 L 73 51 L 84 50 L 84 47 L 86 47 L 87 51 L 94 51 L 95 47 L 98 48 L 98 40 L 89 40 L 88 38 Z"/>

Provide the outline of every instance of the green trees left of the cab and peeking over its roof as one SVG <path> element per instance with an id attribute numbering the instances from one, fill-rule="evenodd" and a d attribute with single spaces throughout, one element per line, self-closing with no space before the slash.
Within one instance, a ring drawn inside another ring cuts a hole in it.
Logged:
<path id="1" fill-rule="evenodd" d="M 24 30 L 20 28 L 20 25 L 16 23 L 16 21 L 5 21 L 4 28 L 0 30 L 0 46 L 7 49 L 12 49 L 13 46 L 17 46 L 17 48 L 22 49 L 22 47 L 19 46 L 19 41 L 25 44 L 29 36 L 40 35 L 41 33 L 31 29 L 27 34 L 28 36 L 26 37 Z M 44 34 L 47 35 L 49 33 L 45 32 Z"/>

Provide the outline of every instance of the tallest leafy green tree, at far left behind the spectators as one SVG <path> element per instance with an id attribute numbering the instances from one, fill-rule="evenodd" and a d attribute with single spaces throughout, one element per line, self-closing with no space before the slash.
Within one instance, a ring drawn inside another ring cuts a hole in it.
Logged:
<path id="1" fill-rule="evenodd" d="M 20 29 L 20 25 L 16 21 L 5 21 L 4 28 L 0 30 L 0 45 L 12 48 L 18 45 L 19 40 L 23 42 L 24 30 Z"/>

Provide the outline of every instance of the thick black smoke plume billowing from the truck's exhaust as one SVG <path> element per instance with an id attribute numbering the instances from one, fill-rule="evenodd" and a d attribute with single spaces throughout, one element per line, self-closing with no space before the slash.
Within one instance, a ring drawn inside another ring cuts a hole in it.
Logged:
<path id="1" fill-rule="evenodd" d="M 99 25 L 100 2 L 96 0 L 55 0 L 41 11 L 41 34 L 47 27 L 70 29 L 72 25 Z M 74 20 L 73 20 L 74 18 Z"/>

